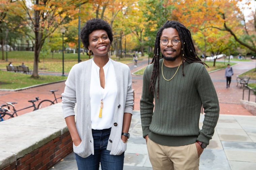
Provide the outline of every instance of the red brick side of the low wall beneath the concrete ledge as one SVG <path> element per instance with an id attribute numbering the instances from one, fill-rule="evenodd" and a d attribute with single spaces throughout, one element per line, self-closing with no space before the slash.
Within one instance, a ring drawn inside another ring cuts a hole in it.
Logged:
<path id="1" fill-rule="evenodd" d="M 48 170 L 73 151 L 69 132 L 46 143 L 2 170 Z"/>

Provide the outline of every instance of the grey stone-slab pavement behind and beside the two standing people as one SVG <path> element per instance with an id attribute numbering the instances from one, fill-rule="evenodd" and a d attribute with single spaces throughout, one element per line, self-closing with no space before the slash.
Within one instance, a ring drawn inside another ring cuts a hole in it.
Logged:
<path id="1" fill-rule="evenodd" d="M 202 127 L 204 115 L 200 115 Z M 152 170 L 139 111 L 134 111 L 130 139 L 125 151 L 124 170 Z M 137 155 L 136 155 L 137 154 Z M 200 157 L 199 170 L 252 170 L 256 167 L 256 116 L 220 115 L 213 139 Z M 55 170 L 77 170 L 71 153 Z M 101 168 L 100 168 L 101 169 Z"/>

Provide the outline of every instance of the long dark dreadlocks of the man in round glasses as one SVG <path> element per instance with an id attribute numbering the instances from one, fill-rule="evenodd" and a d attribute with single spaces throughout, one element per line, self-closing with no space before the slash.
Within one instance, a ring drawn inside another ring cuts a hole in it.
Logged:
<path id="1" fill-rule="evenodd" d="M 157 54 L 157 49 L 160 49 L 160 37 L 162 35 L 162 32 L 166 28 L 174 28 L 178 31 L 181 43 L 182 43 L 182 51 L 181 51 L 181 56 L 182 56 L 182 74 L 184 74 L 184 59 L 188 63 L 201 63 L 203 65 L 206 65 L 209 67 L 207 64 L 202 62 L 199 57 L 196 54 L 195 46 L 191 38 L 191 33 L 190 31 L 181 23 L 178 23 L 176 21 L 167 21 L 157 32 L 156 35 L 156 41 L 155 41 L 155 47 L 154 47 L 154 57 L 152 59 L 151 63 L 154 63 L 153 66 L 153 72 L 151 76 L 151 82 L 149 86 L 149 93 L 152 92 L 154 95 L 154 90 L 156 87 L 156 79 L 159 77 L 159 60 L 160 57 Z M 158 78 L 158 87 L 157 87 L 157 99 L 158 99 L 158 92 L 159 92 L 159 78 Z"/>

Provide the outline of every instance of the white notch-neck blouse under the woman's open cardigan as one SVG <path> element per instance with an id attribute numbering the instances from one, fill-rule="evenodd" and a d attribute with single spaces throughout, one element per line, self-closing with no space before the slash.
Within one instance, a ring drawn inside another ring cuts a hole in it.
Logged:
<path id="1" fill-rule="evenodd" d="M 91 123 L 92 129 L 102 130 L 112 127 L 114 107 L 117 98 L 117 81 L 113 63 L 109 59 L 103 67 L 105 89 L 100 86 L 100 68 L 92 60 L 90 85 Z M 102 117 L 99 117 L 101 99 L 103 102 Z"/>

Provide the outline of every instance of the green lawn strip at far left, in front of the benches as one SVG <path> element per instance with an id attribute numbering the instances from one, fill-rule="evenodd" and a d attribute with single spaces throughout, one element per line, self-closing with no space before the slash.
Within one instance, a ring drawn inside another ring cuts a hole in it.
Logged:
<path id="1" fill-rule="evenodd" d="M 14 73 L 0 70 L 0 89 L 18 89 L 36 84 L 54 82 L 67 79 L 63 76 L 41 75 L 39 79 L 30 78 L 31 75 L 24 73 Z"/>

